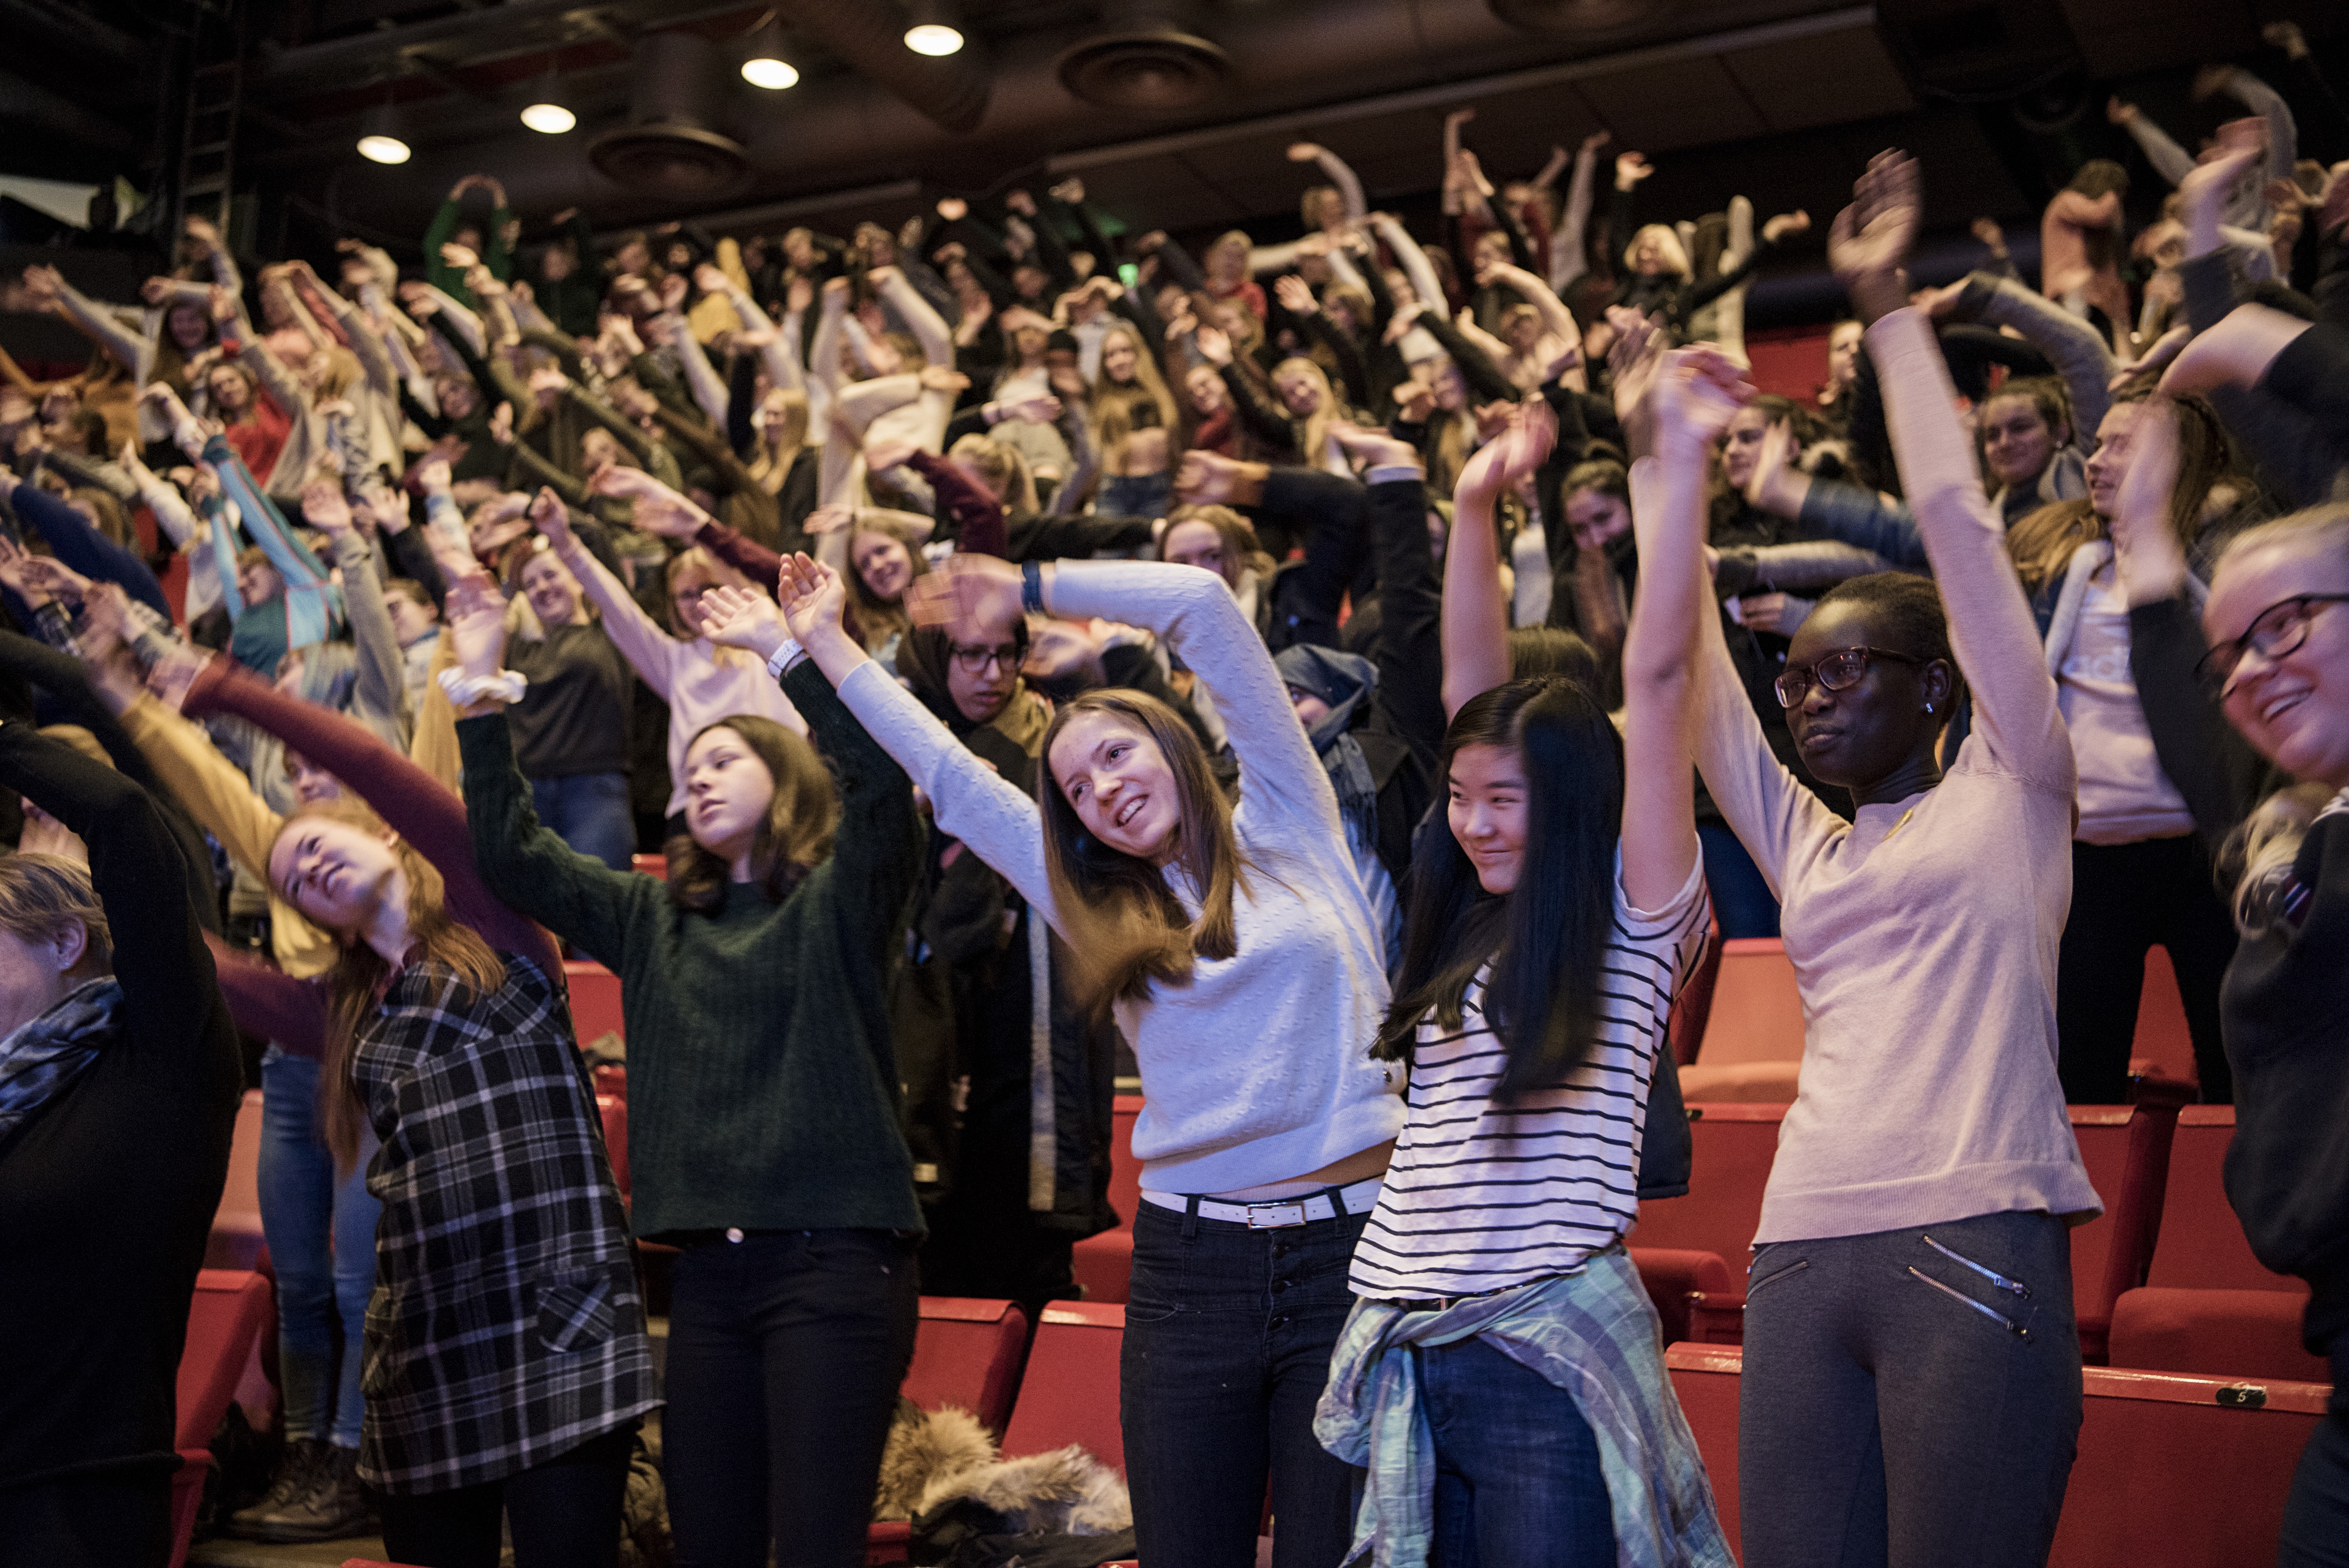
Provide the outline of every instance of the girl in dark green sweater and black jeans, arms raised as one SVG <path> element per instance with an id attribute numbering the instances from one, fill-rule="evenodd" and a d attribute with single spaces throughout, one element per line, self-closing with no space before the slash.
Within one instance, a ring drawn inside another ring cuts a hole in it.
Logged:
<path id="1" fill-rule="evenodd" d="M 460 674 L 493 678 L 486 577 L 449 622 Z M 684 1249 L 669 1519 L 679 1559 L 719 1568 L 766 1563 L 770 1540 L 785 1566 L 862 1561 L 921 1291 L 883 995 L 923 829 L 832 683 L 806 664 L 782 683 L 815 746 L 754 716 L 695 735 L 665 883 L 538 824 L 496 699 L 458 725 L 482 878 L 620 976 L 634 1225 Z"/>

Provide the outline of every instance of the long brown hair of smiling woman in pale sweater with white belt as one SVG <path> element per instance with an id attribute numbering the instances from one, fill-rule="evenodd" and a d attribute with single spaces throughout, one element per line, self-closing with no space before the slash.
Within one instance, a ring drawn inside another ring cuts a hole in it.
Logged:
<path id="1" fill-rule="evenodd" d="M 1111 714 L 1139 725 L 1174 775 L 1179 822 L 1174 866 L 1200 890 L 1200 913 L 1191 920 L 1146 859 L 1111 850 L 1078 819 L 1052 772 L 1052 742 L 1081 714 Z M 1146 692 L 1095 690 L 1064 702 L 1043 732 L 1043 770 L 1036 800 L 1043 807 L 1043 869 L 1059 908 L 1062 937 L 1076 958 L 1071 993 L 1088 1012 L 1116 998 L 1139 1000 L 1151 981 L 1184 986 L 1200 958 L 1240 951 L 1231 897 L 1245 887 L 1247 861 L 1231 831 L 1231 803 L 1217 789 L 1191 725 Z"/>

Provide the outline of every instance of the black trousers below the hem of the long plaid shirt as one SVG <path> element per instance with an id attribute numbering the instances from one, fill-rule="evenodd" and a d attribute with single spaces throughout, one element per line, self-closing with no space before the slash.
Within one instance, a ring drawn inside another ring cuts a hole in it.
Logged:
<path id="1" fill-rule="evenodd" d="M 637 1422 L 552 1460 L 444 1493 L 378 1493 L 383 1552 L 416 1568 L 498 1568 L 500 1521 L 514 1526 L 514 1568 L 613 1568 Z"/>

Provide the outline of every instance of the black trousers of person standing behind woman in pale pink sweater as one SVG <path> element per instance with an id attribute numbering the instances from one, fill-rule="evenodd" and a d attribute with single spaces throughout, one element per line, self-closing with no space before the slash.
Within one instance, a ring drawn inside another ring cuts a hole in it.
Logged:
<path id="1" fill-rule="evenodd" d="M 2217 988 L 2234 958 L 2234 920 L 2192 833 L 2133 845 L 2072 843 L 2072 918 L 2055 960 L 2055 1075 L 2074 1106 L 2128 1099 L 2145 951 L 2163 946 L 2194 1030 L 2194 1073 L 2208 1106 L 2234 1103 L 2217 1033 Z"/>

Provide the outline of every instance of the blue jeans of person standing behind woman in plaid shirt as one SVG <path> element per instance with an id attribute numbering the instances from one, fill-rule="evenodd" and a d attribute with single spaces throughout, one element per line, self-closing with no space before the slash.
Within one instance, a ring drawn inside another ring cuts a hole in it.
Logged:
<path id="1" fill-rule="evenodd" d="M 359 1164 L 336 1181 L 317 1124 L 317 1061 L 275 1045 L 261 1059 L 261 1235 L 277 1270 L 277 1376 L 287 1439 L 331 1437 L 359 1446 L 359 1373 L 366 1364 L 366 1296 L 376 1289 L 376 1218 L 366 1192 L 373 1134 Z M 336 1319 L 343 1371 L 334 1368 Z M 331 1422 L 331 1425 L 329 1425 Z"/>

